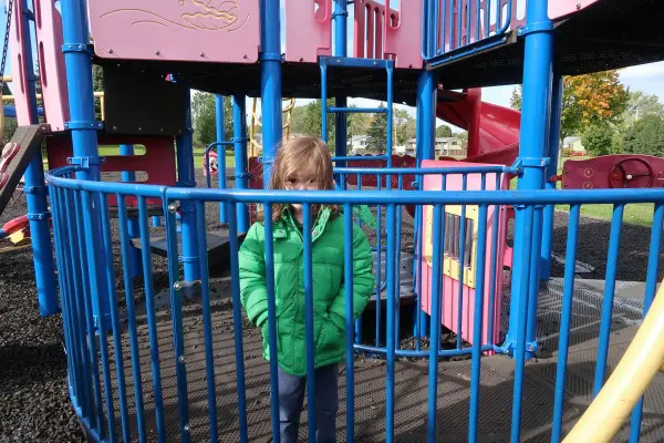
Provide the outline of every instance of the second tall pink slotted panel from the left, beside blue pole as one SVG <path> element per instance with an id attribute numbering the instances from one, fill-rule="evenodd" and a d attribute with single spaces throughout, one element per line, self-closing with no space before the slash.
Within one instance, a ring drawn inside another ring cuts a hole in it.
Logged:
<path id="1" fill-rule="evenodd" d="M 37 1 L 34 4 L 45 121 L 51 125 L 51 131 L 64 131 L 64 122 L 69 120 L 69 96 L 62 52 L 62 17 L 53 0 Z"/>

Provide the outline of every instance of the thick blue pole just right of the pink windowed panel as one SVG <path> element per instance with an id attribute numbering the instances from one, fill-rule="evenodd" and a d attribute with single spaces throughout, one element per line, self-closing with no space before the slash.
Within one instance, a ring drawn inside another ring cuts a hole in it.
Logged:
<path id="1" fill-rule="evenodd" d="M 552 76 L 552 64 L 553 64 L 553 37 L 552 29 L 553 24 L 549 20 L 548 13 L 548 0 L 532 0 L 527 3 L 526 27 L 519 29 L 519 34 L 526 35 L 526 53 L 523 61 L 523 106 L 521 116 L 521 148 L 520 148 L 520 161 L 522 165 L 522 175 L 518 182 L 518 189 L 541 189 L 544 184 L 544 166 L 546 159 L 543 157 L 543 146 L 547 145 L 547 133 L 549 111 L 550 111 L 550 97 L 551 97 L 551 76 Z M 530 225 L 525 220 L 525 210 L 517 210 L 516 225 L 515 225 L 515 250 L 522 250 L 526 238 L 530 238 L 527 244 L 530 245 L 530 254 L 535 254 L 540 257 L 541 247 L 539 241 L 532 241 L 531 237 L 533 231 L 538 231 L 541 228 L 540 225 L 535 223 L 541 223 L 541 209 L 536 212 L 540 213 L 540 216 L 535 216 L 533 224 Z M 510 318 L 509 318 L 509 330 L 507 332 L 506 347 L 513 350 L 515 343 L 518 338 L 517 331 L 519 330 L 519 323 L 526 321 L 527 324 L 531 323 L 530 319 L 519 318 L 519 306 L 521 297 L 528 297 L 530 301 L 533 301 L 535 306 L 528 306 L 528 316 L 537 313 L 537 293 L 529 295 L 529 288 L 535 288 L 537 291 L 537 285 L 526 285 L 521 278 L 523 269 L 530 268 L 525 266 L 525 261 L 529 260 L 528 257 L 517 257 L 512 269 L 512 297 L 510 300 Z M 539 268 L 539 259 L 533 260 L 535 267 Z M 531 276 L 538 276 L 539 269 L 530 269 Z M 526 358 L 532 357 L 533 352 L 537 351 L 535 331 L 529 330 L 532 334 L 526 336 L 527 353 Z"/>

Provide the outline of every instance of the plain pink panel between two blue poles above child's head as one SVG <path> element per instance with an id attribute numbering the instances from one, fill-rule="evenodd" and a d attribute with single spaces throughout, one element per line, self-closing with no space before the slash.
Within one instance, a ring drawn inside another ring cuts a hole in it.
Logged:
<path id="1" fill-rule="evenodd" d="M 330 55 L 331 16 L 331 0 L 286 0 L 286 61 L 318 63 Z"/>

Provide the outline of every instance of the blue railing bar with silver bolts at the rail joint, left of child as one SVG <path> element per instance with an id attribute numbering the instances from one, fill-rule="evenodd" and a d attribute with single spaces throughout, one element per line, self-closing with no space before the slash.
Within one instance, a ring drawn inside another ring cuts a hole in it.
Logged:
<path id="1" fill-rule="evenodd" d="M 183 334 L 183 297 L 179 266 L 177 262 L 177 231 L 175 225 L 175 205 L 164 197 L 164 215 L 166 223 L 166 247 L 168 250 L 168 280 L 170 284 L 170 317 L 173 319 L 173 348 L 175 351 L 175 374 L 177 382 L 177 402 L 179 412 L 180 441 L 189 443 L 189 395 L 187 389 L 187 365 L 185 356 L 185 338 Z M 193 204 L 193 202 L 189 202 Z M 196 229 L 196 226 L 194 226 Z M 185 274 L 186 278 L 186 274 Z"/>

